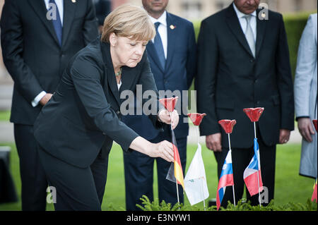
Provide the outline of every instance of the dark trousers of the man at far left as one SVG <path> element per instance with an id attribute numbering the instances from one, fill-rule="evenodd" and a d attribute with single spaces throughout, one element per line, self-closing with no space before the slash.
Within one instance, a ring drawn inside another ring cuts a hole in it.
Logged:
<path id="1" fill-rule="evenodd" d="M 14 138 L 20 159 L 22 210 L 45 211 L 47 179 L 37 154 L 33 126 L 15 123 Z"/>

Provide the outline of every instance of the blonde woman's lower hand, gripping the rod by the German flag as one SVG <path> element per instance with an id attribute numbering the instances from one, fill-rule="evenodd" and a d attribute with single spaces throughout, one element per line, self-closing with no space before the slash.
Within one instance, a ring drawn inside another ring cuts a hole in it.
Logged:
<path id="1" fill-rule="evenodd" d="M 153 144 L 152 150 L 148 154 L 150 157 L 160 157 L 165 159 L 167 162 L 173 162 L 174 154 L 172 143 L 167 140 L 163 140 L 157 144 Z"/>

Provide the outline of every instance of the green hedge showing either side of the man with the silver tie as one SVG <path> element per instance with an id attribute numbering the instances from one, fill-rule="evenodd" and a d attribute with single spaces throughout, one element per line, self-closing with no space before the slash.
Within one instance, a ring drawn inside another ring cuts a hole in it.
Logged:
<path id="1" fill-rule="evenodd" d="M 294 15 L 284 15 L 285 30 L 288 38 L 288 46 L 290 51 L 290 66 L 292 68 L 293 77 L 295 76 L 295 69 L 297 63 L 297 53 L 300 37 L 305 28 L 307 19 L 311 13 L 298 13 Z M 199 35 L 201 21 L 194 21 L 194 31 L 196 38 Z M 192 87 L 193 89 L 193 87 Z"/>

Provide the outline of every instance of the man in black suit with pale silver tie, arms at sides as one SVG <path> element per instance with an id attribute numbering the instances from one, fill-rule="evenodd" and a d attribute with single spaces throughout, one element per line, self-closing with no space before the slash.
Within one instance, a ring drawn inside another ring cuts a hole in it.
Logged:
<path id="1" fill-rule="evenodd" d="M 196 77 L 198 112 L 206 113 L 201 135 L 218 162 L 218 176 L 228 153 L 228 136 L 220 119 L 236 119 L 231 135 L 235 200 L 244 190 L 243 172 L 252 159 L 254 126 L 244 108 L 264 107 L 259 123 L 261 176 L 274 196 L 276 144 L 286 143 L 294 129 L 293 83 L 288 43 L 281 14 L 257 9 L 258 0 L 235 0 L 202 21 Z M 266 189 L 265 188 L 265 189 Z M 247 198 L 257 205 L 258 196 Z M 223 206 L 232 200 L 226 189 Z"/>

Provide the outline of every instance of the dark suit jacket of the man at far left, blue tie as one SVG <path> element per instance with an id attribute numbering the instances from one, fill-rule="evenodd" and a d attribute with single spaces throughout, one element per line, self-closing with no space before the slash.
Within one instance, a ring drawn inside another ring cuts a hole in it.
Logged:
<path id="1" fill-rule="evenodd" d="M 53 93 L 69 59 L 98 36 L 90 0 L 64 1 L 62 44 L 43 0 L 7 0 L 1 16 L 4 64 L 14 80 L 11 119 L 33 125 L 42 106 L 31 102 L 43 90 Z"/>

